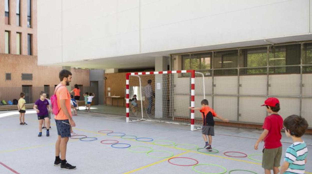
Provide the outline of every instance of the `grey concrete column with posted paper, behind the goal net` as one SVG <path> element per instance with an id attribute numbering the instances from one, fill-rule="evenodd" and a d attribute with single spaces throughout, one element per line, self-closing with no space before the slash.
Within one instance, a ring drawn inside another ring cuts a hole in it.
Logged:
<path id="1" fill-rule="evenodd" d="M 155 71 L 167 71 L 168 57 L 155 57 Z M 168 87 L 166 82 L 166 74 L 155 75 L 155 118 L 162 118 L 167 116 L 166 94 L 168 94 Z M 160 87 L 160 89 L 159 89 Z"/>

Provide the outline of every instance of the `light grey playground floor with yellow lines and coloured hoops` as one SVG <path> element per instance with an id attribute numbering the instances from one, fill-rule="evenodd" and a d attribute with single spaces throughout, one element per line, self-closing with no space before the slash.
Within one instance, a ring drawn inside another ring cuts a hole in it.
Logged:
<path id="1" fill-rule="evenodd" d="M 95 106 L 94 106 L 95 107 Z M 114 108 L 112 108 L 114 109 Z M 195 174 L 191 166 L 175 166 L 170 164 L 168 158 L 153 158 L 145 153 L 129 152 L 127 148 L 112 148 L 110 145 L 102 144 L 100 141 L 112 139 L 119 143 L 128 143 L 133 146 L 148 146 L 154 150 L 165 150 L 174 154 L 175 157 L 189 157 L 196 159 L 200 164 L 217 164 L 227 169 L 227 172 L 234 169 L 251 170 L 256 173 L 264 173 L 261 162 L 249 158 L 231 158 L 223 153 L 227 151 L 239 151 L 246 154 L 261 154 L 254 150 L 253 145 L 261 134 L 260 130 L 239 129 L 233 127 L 215 126 L 216 136 L 213 137 L 212 147 L 218 149 L 219 153 L 206 154 L 197 150 L 183 150 L 174 146 L 159 146 L 153 142 L 139 142 L 134 139 L 122 139 L 120 137 L 108 136 L 98 133 L 99 130 L 112 130 L 126 135 L 134 135 L 138 138 L 148 137 L 154 140 L 170 140 L 177 144 L 194 144 L 202 148 L 204 145 L 200 130 L 190 131 L 189 126 L 155 123 L 149 121 L 137 121 L 126 123 L 124 116 L 88 113 L 79 111 L 74 116 L 76 127 L 74 131 L 88 137 L 96 137 L 97 140 L 84 142 L 77 139 L 70 139 L 67 146 L 66 160 L 76 165 L 73 171 L 64 171 L 60 166 L 53 166 L 55 158 L 55 141 L 57 132 L 54 119 L 51 119 L 52 129 L 50 137 L 37 137 L 38 121 L 32 110 L 27 110 L 25 121 L 28 125 L 19 125 L 17 111 L 0 112 L 0 173 L 186 173 Z M 312 136 L 303 137 L 312 152 Z M 283 152 L 291 144 L 291 139 L 283 134 Z M 190 145 L 181 145 L 180 148 L 193 148 Z M 142 151 L 146 148 L 135 148 Z M 203 151 L 206 152 L 206 151 Z M 165 152 L 150 153 L 155 156 L 167 156 Z M 232 155 L 238 155 L 233 154 Z M 283 154 L 284 156 L 284 154 Z M 261 156 L 254 156 L 261 160 Z M 283 157 L 282 157 L 283 158 Z M 306 173 L 312 174 L 312 155 L 308 155 Z M 194 161 L 183 158 L 173 159 L 172 162 L 188 165 Z M 6 167 L 5 167 L 6 166 Z M 12 170 L 9 170 L 11 168 Z M 218 173 L 222 169 L 216 166 L 198 166 L 201 172 Z M 247 174 L 248 172 L 232 172 L 232 174 Z"/>

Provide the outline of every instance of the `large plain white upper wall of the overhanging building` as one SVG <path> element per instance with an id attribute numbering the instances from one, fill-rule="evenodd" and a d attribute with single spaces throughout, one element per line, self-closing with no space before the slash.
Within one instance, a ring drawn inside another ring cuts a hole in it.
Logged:
<path id="1" fill-rule="evenodd" d="M 40 0 L 38 64 L 307 34 L 308 1 Z"/>

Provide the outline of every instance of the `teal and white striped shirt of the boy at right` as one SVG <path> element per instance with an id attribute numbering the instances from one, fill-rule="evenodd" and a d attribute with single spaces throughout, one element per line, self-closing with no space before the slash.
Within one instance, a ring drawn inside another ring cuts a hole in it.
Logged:
<path id="1" fill-rule="evenodd" d="M 284 161 L 289 162 L 289 167 L 284 174 L 304 174 L 305 158 L 308 148 L 305 142 L 295 142 L 286 149 Z"/>

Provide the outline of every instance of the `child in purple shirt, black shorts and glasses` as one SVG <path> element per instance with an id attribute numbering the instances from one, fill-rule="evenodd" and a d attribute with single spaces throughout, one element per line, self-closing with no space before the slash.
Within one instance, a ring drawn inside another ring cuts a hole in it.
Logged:
<path id="1" fill-rule="evenodd" d="M 40 98 L 35 102 L 34 110 L 37 112 L 38 120 L 39 120 L 39 134 L 38 137 L 42 135 L 42 122 L 43 119 L 46 122 L 46 136 L 50 136 L 49 129 L 50 128 L 50 119 L 49 119 L 49 112 L 52 112 L 49 101 L 46 100 L 46 92 L 40 92 Z"/>

